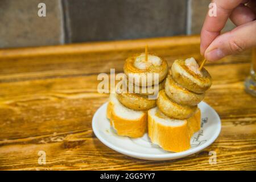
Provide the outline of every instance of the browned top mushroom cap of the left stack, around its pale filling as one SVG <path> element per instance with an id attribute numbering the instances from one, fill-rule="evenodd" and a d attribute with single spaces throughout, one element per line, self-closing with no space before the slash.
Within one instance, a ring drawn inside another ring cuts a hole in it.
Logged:
<path id="1" fill-rule="evenodd" d="M 159 82 L 162 82 L 164 78 L 167 75 L 168 72 L 168 64 L 167 61 L 162 59 L 162 64 L 160 66 L 154 66 L 151 65 L 147 69 L 138 69 L 134 66 L 134 61 L 138 55 L 128 57 L 125 61 L 125 65 L 123 67 L 123 71 L 125 72 L 125 75 L 129 78 L 131 76 L 132 79 L 134 77 L 138 78 L 139 83 L 135 82 L 136 85 L 142 86 L 142 79 L 148 77 L 148 73 L 158 73 L 159 74 L 159 80 L 158 82 L 155 82 L 154 79 L 152 80 L 153 84 L 159 84 Z"/>

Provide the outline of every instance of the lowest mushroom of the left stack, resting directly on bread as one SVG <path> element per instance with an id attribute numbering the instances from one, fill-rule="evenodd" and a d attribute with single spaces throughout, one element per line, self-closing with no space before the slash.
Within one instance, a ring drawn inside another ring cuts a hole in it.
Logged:
<path id="1" fill-rule="evenodd" d="M 148 110 L 156 106 L 156 100 L 149 100 L 147 96 L 136 93 L 119 93 L 117 99 L 122 105 L 133 110 Z"/>

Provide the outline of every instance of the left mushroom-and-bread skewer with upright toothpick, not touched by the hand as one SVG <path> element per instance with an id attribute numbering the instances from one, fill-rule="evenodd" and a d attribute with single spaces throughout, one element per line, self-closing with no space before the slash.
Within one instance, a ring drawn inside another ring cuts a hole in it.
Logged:
<path id="1" fill-rule="evenodd" d="M 147 131 L 147 111 L 156 106 L 157 98 L 157 93 L 155 98 L 150 98 L 155 92 L 150 92 L 148 86 L 151 90 L 157 88 L 157 92 L 164 89 L 168 64 L 166 60 L 148 54 L 146 46 L 144 53 L 126 59 L 123 70 L 126 87 L 121 90 L 116 88 L 115 93 L 110 94 L 107 117 L 118 135 L 142 137 Z M 152 77 L 154 74 L 158 75 L 157 79 Z M 151 80 L 148 81 L 148 78 Z"/>

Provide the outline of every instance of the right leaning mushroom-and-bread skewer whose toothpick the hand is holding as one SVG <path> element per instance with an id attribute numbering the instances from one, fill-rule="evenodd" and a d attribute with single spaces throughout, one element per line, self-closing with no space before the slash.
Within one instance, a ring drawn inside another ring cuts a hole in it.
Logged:
<path id="1" fill-rule="evenodd" d="M 160 90 L 156 104 L 148 111 L 148 135 L 164 150 L 188 150 L 190 138 L 200 130 L 200 109 L 197 107 L 212 84 L 206 69 L 192 57 L 175 60 Z"/>

